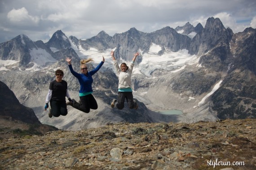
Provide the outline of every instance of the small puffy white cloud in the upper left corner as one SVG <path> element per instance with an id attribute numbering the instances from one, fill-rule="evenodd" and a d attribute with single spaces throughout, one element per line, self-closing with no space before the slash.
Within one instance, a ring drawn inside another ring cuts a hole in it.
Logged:
<path id="1" fill-rule="evenodd" d="M 37 25 L 39 22 L 39 17 L 31 16 L 28 14 L 26 8 L 12 9 L 8 14 L 7 18 L 14 25 L 27 26 L 27 25 Z"/>

